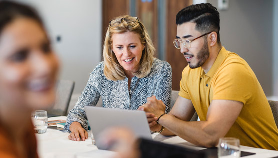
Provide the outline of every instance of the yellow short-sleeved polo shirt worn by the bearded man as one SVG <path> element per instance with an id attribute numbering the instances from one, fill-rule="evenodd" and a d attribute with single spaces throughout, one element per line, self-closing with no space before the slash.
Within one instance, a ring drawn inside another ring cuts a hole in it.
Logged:
<path id="1" fill-rule="evenodd" d="M 242 102 L 243 108 L 226 137 L 239 138 L 241 145 L 278 150 L 278 129 L 268 100 L 248 63 L 236 53 L 222 47 L 207 74 L 201 67 L 187 66 L 179 95 L 192 101 L 201 121 L 206 120 L 212 100 Z"/>

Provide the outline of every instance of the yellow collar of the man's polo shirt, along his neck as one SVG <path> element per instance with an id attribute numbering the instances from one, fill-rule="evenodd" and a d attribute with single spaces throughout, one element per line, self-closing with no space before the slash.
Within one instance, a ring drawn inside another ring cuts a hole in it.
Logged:
<path id="1" fill-rule="evenodd" d="M 213 63 L 212 67 L 210 68 L 210 70 L 208 71 L 208 73 L 206 74 L 209 77 L 213 77 L 213 75 L 215 74 L 215 72 L 217 71 L 217 69 L 219 68 L 219 66 L 221 65 L 221 63 L 224 61 L 224 59 L 227 56 L 227 50 L 222 47 L 215 62 Z"/>

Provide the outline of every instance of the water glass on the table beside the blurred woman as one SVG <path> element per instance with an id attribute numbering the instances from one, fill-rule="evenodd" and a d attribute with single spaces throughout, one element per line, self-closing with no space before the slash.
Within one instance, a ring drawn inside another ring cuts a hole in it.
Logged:
<path id="1" fill-rule="evenodd" d="M 35 133 L 45 133 L 47 130 L 47 112 L 36 110 L 31 113 L 31 119 L 34 125 Z"/>

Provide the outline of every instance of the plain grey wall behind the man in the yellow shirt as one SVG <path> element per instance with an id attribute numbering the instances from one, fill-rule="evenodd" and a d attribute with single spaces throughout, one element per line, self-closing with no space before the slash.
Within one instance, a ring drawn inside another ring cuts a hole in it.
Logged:
<path id="1" fill-rule="evenodd" d="M 207 2 L 218 5 L 217 0 Z M 232 0 L 219 13 L 222 45 L 245 59 L 266 96 L 273 95 L 273 1 Z"/>

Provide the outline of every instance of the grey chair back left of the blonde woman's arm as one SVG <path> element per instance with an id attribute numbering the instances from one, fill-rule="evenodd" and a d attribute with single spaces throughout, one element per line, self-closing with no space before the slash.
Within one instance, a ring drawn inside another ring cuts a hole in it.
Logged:
<path id="1" fill-rule="evenodd" d="M 66 116 L 72 97 L 75 82 L 60 80 L 57 83 L 56 100 L 54 105 L 47 110 L 48 114 Z"/>

